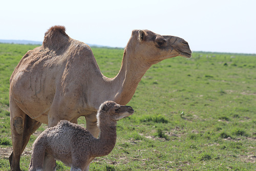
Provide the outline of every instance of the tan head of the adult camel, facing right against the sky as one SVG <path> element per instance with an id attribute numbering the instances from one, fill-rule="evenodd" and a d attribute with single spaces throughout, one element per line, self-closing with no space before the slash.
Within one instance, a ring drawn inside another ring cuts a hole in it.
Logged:
<path id="1" fill-rule="evenodd" d="M 133 44 L 132 51 L 136 56 L 150 65 L 175 56 L 190 58 L 192 53 L 184 39 L 162 36 L 150 30 L 133 30 L 129 42 Z M 131 46 L 128 44 L 127 48 Z"/>

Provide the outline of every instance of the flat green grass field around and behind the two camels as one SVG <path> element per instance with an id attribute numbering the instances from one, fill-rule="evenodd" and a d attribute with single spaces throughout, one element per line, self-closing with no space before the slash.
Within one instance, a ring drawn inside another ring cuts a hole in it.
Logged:
<path id="1" fill-rule="evenodd" d="M 9 78 L 35 47 L 0 44 L 0 170 L 10 169 Z M 101 72 L 114 77 L 123 50 L 92 50 Z M 90 170 L 256 170 L 256 55 L 194 52 L 191 59 L 166 59 L 146 72 L 128 105 L 135 113 L 118 121 L 115 148 Z M 46 127 L 31 136 L 23 170 Z"/>

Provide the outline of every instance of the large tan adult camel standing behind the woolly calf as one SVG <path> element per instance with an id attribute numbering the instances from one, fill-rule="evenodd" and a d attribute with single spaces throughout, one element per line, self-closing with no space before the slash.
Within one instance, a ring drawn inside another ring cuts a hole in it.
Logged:
<path id="1" fill-rule="evenodd" d="M 87 129 L 98 137 L 99 105 L 106 100 L 127 104 L 153 64 L 178 55 L 191 56 L 182 38 L 133 30 L 118 75 L 107 78 L 88 45 L 70 38 L 65 27 L 50 28 L 42 46 L 28 51 L 10 78 L 11 170 L 20 170 L 20 155 L 41 123 L 49 127 L 62 119 L 77 123 L 85 116 Z"/>

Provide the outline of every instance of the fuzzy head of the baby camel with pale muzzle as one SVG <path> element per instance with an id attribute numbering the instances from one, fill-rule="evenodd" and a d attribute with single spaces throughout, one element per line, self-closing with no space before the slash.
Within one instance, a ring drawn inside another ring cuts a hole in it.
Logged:
<path id="1" fill-rule="evenodd" d="M 103 102 L 97 113 L 97 125 L 102 121 L 116 122 L 122 118 L 128 117 L 134 113 L 131 106 L 120 105 L 114 101 Z"/>

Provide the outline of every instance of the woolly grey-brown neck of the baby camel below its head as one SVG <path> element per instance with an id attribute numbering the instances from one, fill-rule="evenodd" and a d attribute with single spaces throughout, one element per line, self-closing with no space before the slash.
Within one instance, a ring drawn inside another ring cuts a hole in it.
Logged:
<path id="1" fill-rule="evenodd" d="M 95 157 L 110 154 L 116 144 L 116 125 L 100 126 L 99 138 L 96 140 Z"/>

